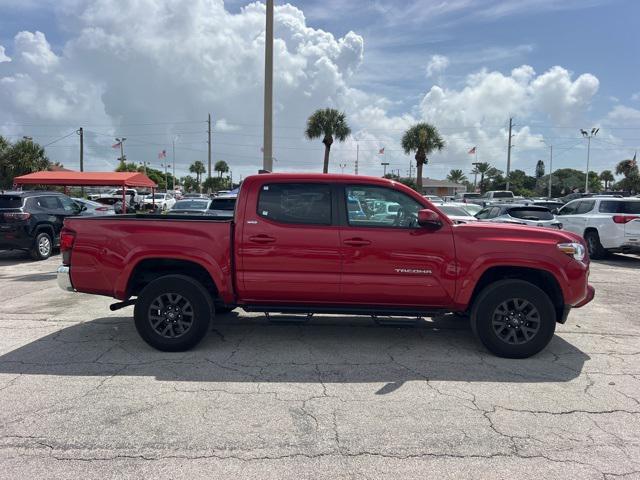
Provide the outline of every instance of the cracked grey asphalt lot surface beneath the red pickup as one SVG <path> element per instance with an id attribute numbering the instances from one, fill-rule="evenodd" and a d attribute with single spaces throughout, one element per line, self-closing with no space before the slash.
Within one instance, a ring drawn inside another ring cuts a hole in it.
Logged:
<path id="1" fill-rule="evenodd" d="M 240 310 L 162 353 L 58 263 L 0 252 L 1 478 L 640 478 L 638 257 L 520 361 L 454 318 Z"/>

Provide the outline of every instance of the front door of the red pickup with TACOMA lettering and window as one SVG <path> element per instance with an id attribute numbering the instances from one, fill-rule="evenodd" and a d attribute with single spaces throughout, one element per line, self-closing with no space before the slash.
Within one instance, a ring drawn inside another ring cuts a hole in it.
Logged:
<path id="1" fill-rule="evenodd" d="M 417 224 L 426 208 L 404 192 L 374 185 L 347 185 L 342 243 L 344 303 L 438 307 L 455 294 L 452 226 Z"/>

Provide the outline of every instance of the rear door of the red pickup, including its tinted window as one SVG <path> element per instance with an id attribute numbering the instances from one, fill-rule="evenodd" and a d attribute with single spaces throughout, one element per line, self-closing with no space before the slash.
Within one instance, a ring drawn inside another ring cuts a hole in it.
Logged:
<path id="1" fill-rule="evenodd" d="M 340 236 L 333 190 L 326 183 L 274 182 L 248 193 L 236 239 L 246 303 L 336 303 Z"/>

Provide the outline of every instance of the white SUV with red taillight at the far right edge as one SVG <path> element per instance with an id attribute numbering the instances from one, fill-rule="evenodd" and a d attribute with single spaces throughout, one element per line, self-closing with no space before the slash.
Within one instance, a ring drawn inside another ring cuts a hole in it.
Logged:
<path id="1" fill-rule="evenodd" d="M 557 216 L 565 230 L 584 237 L 591 258 L 640 253 L 640 198 L 581 198 L 567 203 Z"/>

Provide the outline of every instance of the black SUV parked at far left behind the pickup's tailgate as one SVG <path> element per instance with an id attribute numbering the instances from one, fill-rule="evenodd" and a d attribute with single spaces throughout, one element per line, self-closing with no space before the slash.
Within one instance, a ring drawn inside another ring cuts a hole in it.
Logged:
<path id="1" fill-rule="evenodd" d="M 0 192 L 0 250 L 28 250 L 34 260 L 53 253 L 66 217 L 82 207 L 58 192 Z"/>

